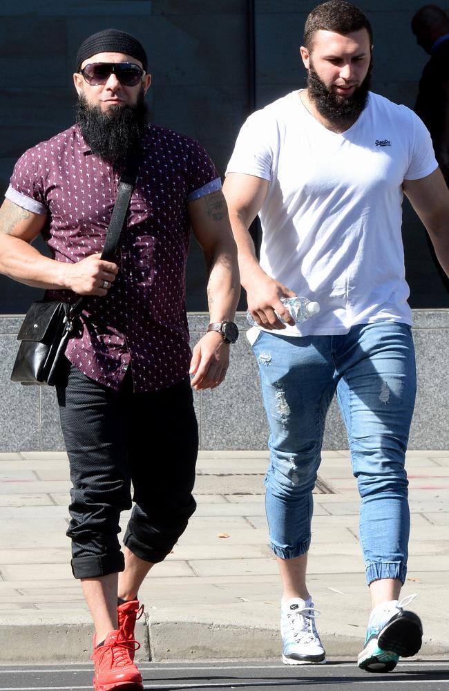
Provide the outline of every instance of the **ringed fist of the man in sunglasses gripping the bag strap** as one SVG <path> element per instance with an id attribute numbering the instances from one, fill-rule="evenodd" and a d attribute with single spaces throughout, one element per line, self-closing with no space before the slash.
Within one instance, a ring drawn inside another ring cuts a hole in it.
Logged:
<path id="1" fill-rule="evenodd" d="M 78 295 L 105 296 L 115 281 L 119 267 L 111 261 L 100 259 L 100 256 L 91 254 L 75 264 L 61 264 L 66 287 Z"/>

